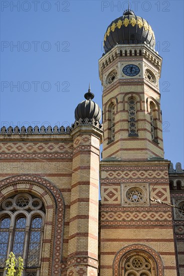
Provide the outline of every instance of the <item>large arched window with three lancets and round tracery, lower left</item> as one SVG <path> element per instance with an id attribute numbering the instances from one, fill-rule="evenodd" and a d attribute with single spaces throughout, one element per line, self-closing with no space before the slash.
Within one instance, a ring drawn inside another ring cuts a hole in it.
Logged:
<path id="1" fill-rule="evenodd" d="M 40 275 L 45 207 L 30 194 L 6 199 L 0 206 L 0 275 L 10 252 L 24 260 L 26 276 Z"/>

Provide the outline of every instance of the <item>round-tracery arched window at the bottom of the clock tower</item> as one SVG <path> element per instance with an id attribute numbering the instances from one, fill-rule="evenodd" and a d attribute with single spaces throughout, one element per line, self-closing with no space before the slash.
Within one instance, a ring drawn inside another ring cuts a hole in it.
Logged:
<path id="1" fill-rule="evenodd" d="M 125 276 L 151 276 L 151 264 L 142 256 L 129 257 L 124 267 Z"/>

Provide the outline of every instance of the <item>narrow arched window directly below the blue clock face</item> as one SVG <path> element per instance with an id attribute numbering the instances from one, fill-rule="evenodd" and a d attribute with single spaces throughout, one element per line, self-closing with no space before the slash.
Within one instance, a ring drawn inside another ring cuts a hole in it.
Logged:
<path id="1" fill-rule="evenodd" d="M 136 100 L 130 98 L 128 100 L 128 134 L 129 136 L 137 136 L 137 106 Z"/>

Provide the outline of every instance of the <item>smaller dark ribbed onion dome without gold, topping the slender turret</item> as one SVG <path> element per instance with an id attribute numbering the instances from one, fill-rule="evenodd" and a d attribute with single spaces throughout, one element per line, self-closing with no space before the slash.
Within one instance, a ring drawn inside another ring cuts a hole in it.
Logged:
<path id="1" fill-rule="evenodd" d="M 75 119 L 78 121 L 79 118 L 94 118 L 95 121 L 99 121 L 101 119 L 102 112 L 98 104 L 92 101 L 94 94 L 91 93 L 90 84 L 88 92 L 84 95 L 84 97 L 86 100 L 79 103 L 75 108 Z"/>

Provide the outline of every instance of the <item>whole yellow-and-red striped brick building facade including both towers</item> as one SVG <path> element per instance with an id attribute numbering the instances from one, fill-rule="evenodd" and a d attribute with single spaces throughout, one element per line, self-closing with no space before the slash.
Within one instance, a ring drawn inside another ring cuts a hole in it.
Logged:
<path id="1" fill-rule="evenodd" d="M 161 63 L 146 43 L 115 45 L 102 56 L 103 127 L 93 117 L 66 129 L 1 129 L 0 245 L 10 253 L 16 219 L 27 219 L 24 276 L 184 275 L 184 171 L 164 160 Z M 122 73 L 128 64 L 139 68 L 131 78 Z M 25 194 L 32 202 L 16 205 Z M 38 232 L 30 221 L 40 214 L 39 261 L 28 266 L 30 231 Z M 14 225 L 2 226 L 3 219 Z"/>

